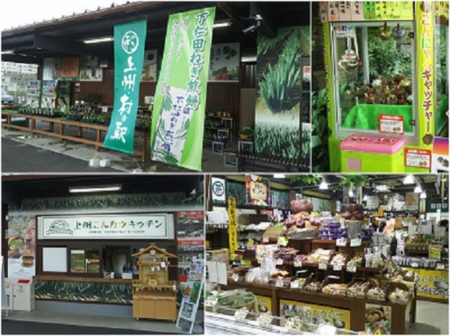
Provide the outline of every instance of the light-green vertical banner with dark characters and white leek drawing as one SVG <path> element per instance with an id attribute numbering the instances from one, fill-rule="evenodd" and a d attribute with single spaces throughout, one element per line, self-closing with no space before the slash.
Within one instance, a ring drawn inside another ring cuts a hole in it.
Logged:
<path id="1" fill-rule="evenodd" d="M 215 7 L 169 16 L 153 105 L 154 161 L 200 171 Z"/>

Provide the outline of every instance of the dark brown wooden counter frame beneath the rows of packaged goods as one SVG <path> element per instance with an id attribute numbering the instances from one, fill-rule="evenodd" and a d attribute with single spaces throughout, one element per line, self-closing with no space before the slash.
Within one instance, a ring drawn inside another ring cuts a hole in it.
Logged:
<path id="1" fill-rule="evenodd" d="M 416 299 L 411 299 L 409 304 L 393 304 L 354 297 L 341 297 L 323 293 L 308 292 L 306 290 L 291 290 L 288 288 L 276 288 L 264 285 L 251 285 L 248 283 L 229 283 L 221 287 L 224 290 L 245 288 L 255 295 L 271 297 L 272 315 L 285 316 L 283 307 L 295 305 L 300 311 L 302 307 L 319 311 L 320 316 L 338 316 L 333 318 L 333 323 L 339 321 L 340 328 L 354 331 L 366 330 L 366 311 L 370 309 L 383 309 L 390 315 L 390 333 L 404 335 L 408 332 L 411 323 L 416 321 Z M 342 327 L 344 325 L 344 327 Z"/>

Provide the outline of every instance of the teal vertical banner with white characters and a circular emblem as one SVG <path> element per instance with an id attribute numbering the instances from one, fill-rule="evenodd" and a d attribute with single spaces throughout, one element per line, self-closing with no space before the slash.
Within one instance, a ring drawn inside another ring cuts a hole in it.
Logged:
<path id="1" fill-rule="evenodd" d="M 103 147 L 133 154 L 147 20 L 114 26 L 114 112 Z"/>

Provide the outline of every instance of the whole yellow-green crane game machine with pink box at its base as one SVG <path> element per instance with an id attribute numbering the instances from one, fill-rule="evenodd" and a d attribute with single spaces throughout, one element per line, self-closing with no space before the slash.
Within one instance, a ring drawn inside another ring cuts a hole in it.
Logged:
<path id="1" fill-rule="evenodd" d="M 322 1 L 320 15 L 330 170 L 430 172 L 448 137 L 449 2 Z"/>

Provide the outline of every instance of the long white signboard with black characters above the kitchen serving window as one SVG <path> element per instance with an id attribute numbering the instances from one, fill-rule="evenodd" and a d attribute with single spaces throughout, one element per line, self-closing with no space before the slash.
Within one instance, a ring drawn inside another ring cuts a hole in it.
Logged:
<path id="1" fill-rule="evenodd" d="M 39 239 L 174 238 L 173 215 L 74 215 L 38 217 Z"/>

